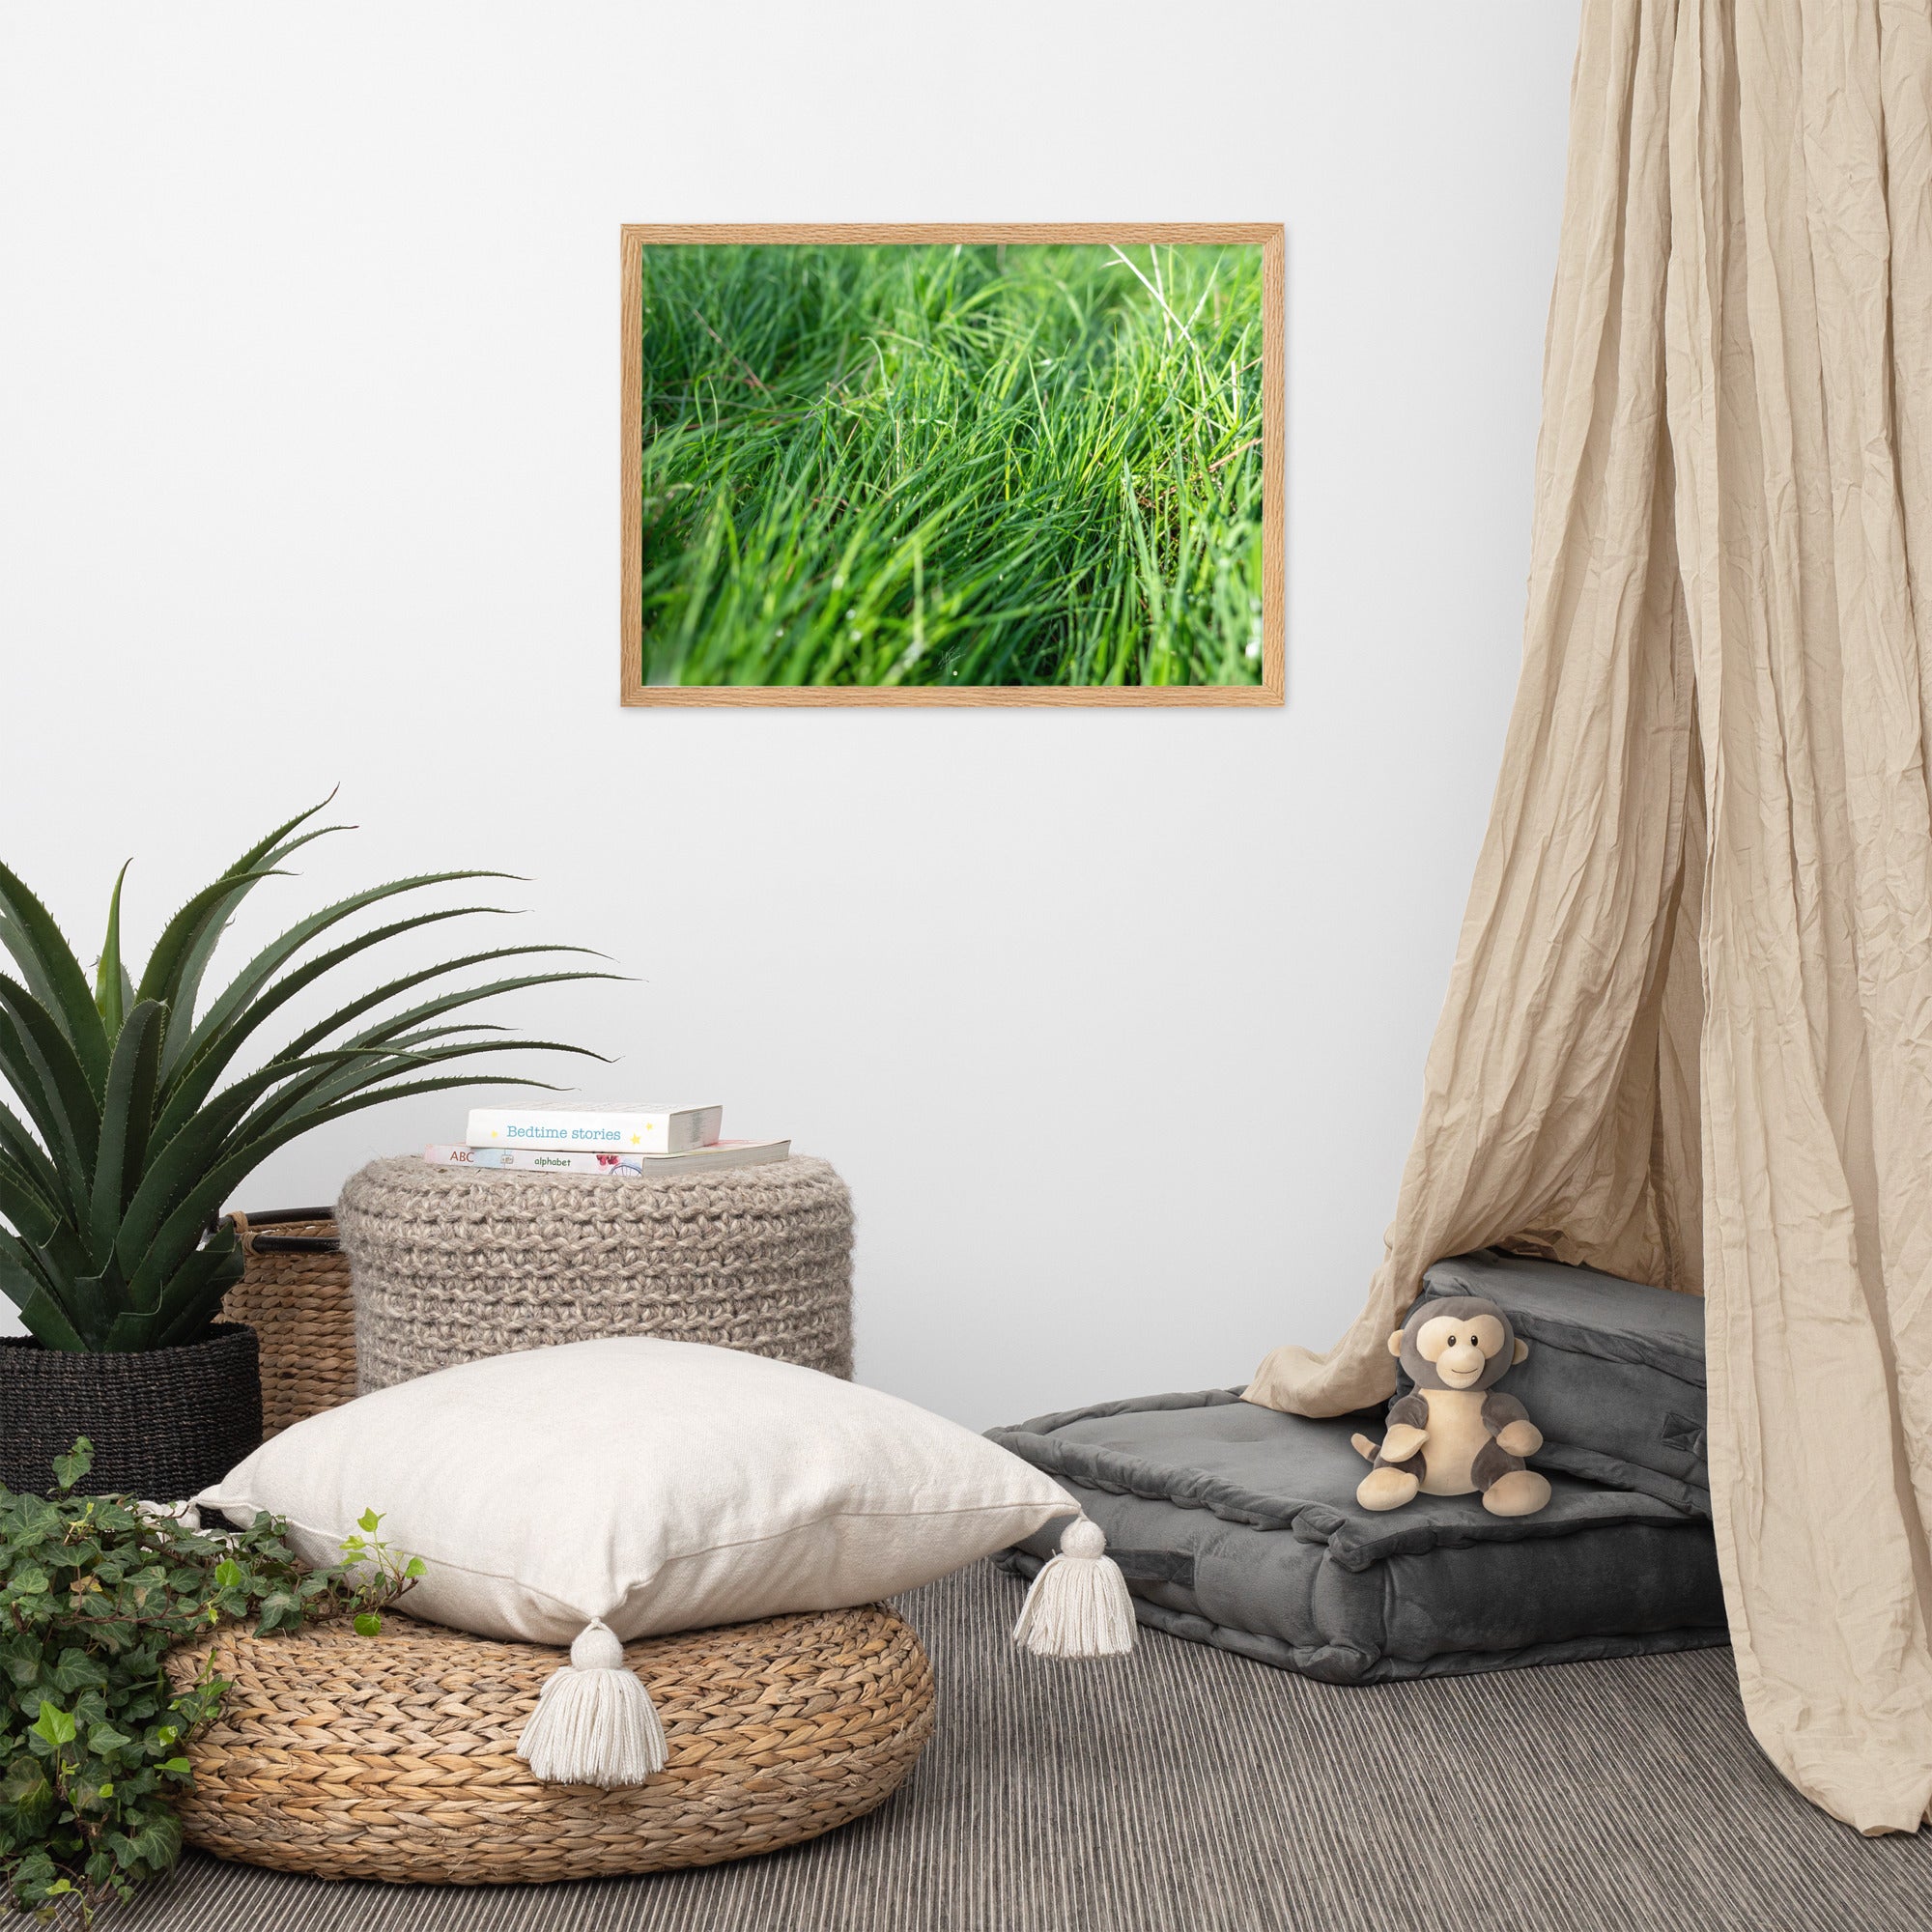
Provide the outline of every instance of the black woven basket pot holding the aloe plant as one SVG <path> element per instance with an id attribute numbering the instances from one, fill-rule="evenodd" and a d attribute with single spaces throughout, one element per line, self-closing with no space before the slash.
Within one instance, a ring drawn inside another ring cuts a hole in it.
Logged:
<path id="1" fill-rule="evenodd" d="M 85 1435 L 85 1495 L 174 1503 L 218 1482 L 261 1443 L 255 1331 L 216 1321 L 185 1349 L 70 1354 L 0 1337 L 0 1484 L 46 1495 L 52 1461 Z"/>

